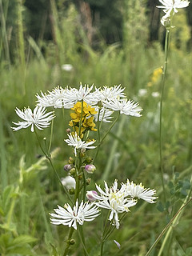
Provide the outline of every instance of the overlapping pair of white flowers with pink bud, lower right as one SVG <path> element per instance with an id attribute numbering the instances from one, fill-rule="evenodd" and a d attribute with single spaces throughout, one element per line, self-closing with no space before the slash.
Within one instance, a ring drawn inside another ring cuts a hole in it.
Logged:
<path id="1" fill-rule="evenodd" d="M 87 198 L 92 202 L 97 200 L 95 204 L 98 207 L 110 210 L 109 220 L 117 229 L 119 228 L 118 214 L 130 211 L 129 208 L 135 206 L 138 202 L 135 198 L 141 198 L 150 203 L 154 203 L 156 199 L 154 197 L 156 190 L 146 189 L 142 186 L 142 183 L 136 185 L 129 180 L 122 183 L 120 189 L 118 189 L 117 180 L 114 181 L 114 185 L 111 187 L 108 187 L 105 182 L 105 190 L 102 190 L 98 185 L 96 185 L 96 188 L 100 195 L 96 191 L 87 191 Z"/>

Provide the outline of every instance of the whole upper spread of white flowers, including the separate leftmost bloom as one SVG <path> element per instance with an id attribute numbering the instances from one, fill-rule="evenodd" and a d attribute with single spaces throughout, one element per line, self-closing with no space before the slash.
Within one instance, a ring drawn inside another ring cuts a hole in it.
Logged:
<path id="1" fill-rule="evenodd" d="M 114 111 L 119 111 L 120 114 L 140 117 L 141 107 L 138 103 L 127 100 L 124 94 L 125 88 L 119 86 L 103 88 L 94 88 L 94 86 L 82 86 L 76 88 L 62 88 L 58 86 L 47 94 L 37 94 L 37 106 L 34 112 L 28 107 L 24 110 L 16 108 L 16 114 L 24 121 L 14 122 L 18 127 L 12 127 L 13 130 L 20 130 L 31 126 L 31 131 L 34 131 L 34 126 L 42 130 L 50 125 L 50 121 L 54 118 L 54 112 L 46 113 L 46 107 L 53 106 L 54 108 L 71 109 L 77 102 L 83 101 L 94 106 L 97 114 L 94 114 L 95 122 L 111 122 L 111 115 Z M 89 118 L 89 117 L 88 117 Z"/>

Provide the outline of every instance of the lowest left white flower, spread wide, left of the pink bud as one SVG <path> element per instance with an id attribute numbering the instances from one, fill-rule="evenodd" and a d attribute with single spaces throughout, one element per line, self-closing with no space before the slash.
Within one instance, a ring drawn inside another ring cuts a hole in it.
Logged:
<path id="1" fill-rule="evenodd" d="M 71 208 L 69 204 L 65 204 L 64 208 L 58 206 L 58 209 L 54 209 L 56 214 L 50 214 L 50 222 L 54 225 L 73 226 L 77 230 L 79 225 L 83 225 L 83 222 L 92 222 L 99 215 L 97 206 L 93 203 L 81 202 L 78 206 L 78 200 L 75 203 L 74 208 Z"/>

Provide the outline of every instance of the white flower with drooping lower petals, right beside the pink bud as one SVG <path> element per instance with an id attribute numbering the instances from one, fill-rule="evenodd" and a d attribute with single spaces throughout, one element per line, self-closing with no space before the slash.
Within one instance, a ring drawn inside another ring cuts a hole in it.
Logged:
<path id="1" fill-rule="evenodd" d="M 114 181 L 114 185 L 111 187 L 107 186 L 105 182 L 105 191 L 101 189 L 100 186 L 96 185 L 100 196 L 97 194 L 92 194 L 92 196 L 98 200 L 95 204 L 98 207 L 106 208 L 110 210 L 109 220 L 113 222 L 113 225 L 116 228 L 119 228 L 119 219 L 118 214 L 123 212 L 130 211 L 129 208 L 135 206 L 137 201 L 132 198 L 126 198 L 125 186 L 121 186 L 121 189 L 118 190 L 118 181 Z"/>

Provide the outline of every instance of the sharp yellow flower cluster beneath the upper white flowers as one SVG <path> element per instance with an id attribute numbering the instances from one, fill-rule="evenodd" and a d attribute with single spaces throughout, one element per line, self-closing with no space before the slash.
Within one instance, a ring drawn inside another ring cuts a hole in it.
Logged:
<path id="1" fill-rule="evenodd" d="M 79 127 L 81 127 L 80 138 L 83 137 L 83 133 L 86 130 L 97 130 L 94 128 L 95 123 L 93 115 L 97 114 L 94 107 L 88 105 L 86 102 L 77 102 L 71 110 L 74 110 L 74 112 L 70 114 L 72 120 L 69 125 L 74 128 L 77 134 L 79 134 Z"/>

